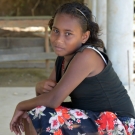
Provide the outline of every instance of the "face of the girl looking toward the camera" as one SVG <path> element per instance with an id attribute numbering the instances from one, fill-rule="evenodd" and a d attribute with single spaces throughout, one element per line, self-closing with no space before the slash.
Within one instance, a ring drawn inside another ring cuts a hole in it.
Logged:
<path id="1" fill-rule="evenodd" d="M 73 54 L 84 42 L 79 19 L 68 14 L 57 14 L 50 35 L 51 45 L 58 56 Z"/>

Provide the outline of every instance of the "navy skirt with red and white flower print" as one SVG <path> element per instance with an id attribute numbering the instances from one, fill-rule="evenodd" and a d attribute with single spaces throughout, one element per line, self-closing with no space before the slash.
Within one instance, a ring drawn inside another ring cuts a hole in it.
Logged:
<path id="1" fill-rule="evenodd" d="M 135 135 L 135 119 L 112 112 L 39 106 L 29 116 L 38 135 Z"/>

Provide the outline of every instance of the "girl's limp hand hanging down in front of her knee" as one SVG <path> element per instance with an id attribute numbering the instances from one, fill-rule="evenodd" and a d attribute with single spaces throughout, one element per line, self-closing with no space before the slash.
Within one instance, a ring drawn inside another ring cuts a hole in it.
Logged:
<path id="1" fill-rule="evenodd" d="M 24 126 L 22 119 L 25 118 L 27 121 L 30 121 L 30 118 L 26 111 L 18 110 L 16 107 L 16 110 L 14 112 L 13 118 L 10 122 L 10 130 L 11 132 L 14 132 L 16 135 L 21 135 L 21 131 L 24 132 Z"/>

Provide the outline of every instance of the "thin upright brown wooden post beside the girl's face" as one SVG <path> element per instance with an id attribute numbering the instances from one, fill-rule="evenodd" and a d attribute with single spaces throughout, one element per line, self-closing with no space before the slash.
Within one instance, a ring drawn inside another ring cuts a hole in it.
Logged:
<path id="1" fill-rule="evenodd" d="M 49 37 L 48 37 L 48 26 L 45 26 L 45 51 L 46 51 L 46 53 L 50 52 Z M 50 61 L 46 60 L 45 63 L 46 63 L 46 70 L 49 71 Z"/>

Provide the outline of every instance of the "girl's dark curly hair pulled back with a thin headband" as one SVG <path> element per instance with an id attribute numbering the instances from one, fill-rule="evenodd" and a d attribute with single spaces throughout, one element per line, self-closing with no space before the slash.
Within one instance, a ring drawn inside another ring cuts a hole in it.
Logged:
<path id="1" fill-rule="evenodd" d="M 91 44 L 95 47 L 104 48 L 103 41 L 98 38 L 99 26 L 93 21 L 91 10 L 84 4 L 78 2 L 65 3 L 61 5 L 49 21 L 49 27 L 52 29 L 56 14 L 70 14 L 79 19 L 83 32 L 90 31 L 90 37 L 85 44 Z M 84 44 L 83 44 L 84 45 Z"/>

